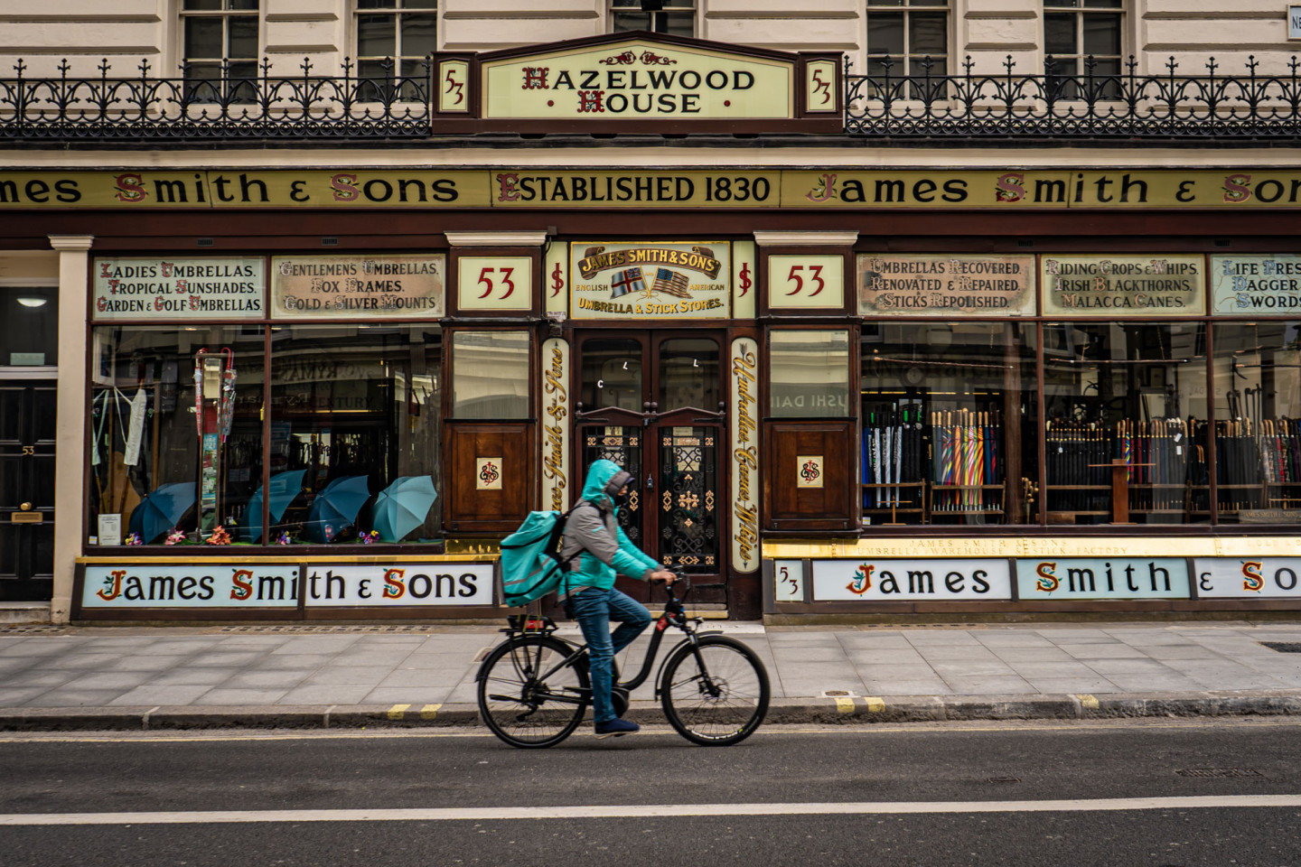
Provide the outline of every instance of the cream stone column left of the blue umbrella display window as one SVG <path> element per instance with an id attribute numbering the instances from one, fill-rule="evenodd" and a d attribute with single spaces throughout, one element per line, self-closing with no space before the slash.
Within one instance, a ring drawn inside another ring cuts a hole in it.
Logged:
<path id="1" fill-rule="evenodd" d="M 51 623 L 72 616 L 73 575 L 85 542 L 86 305 L 94 235 L 49 235 L 59 251 L 59 398 L 55 434 L 55 593 Z"/>

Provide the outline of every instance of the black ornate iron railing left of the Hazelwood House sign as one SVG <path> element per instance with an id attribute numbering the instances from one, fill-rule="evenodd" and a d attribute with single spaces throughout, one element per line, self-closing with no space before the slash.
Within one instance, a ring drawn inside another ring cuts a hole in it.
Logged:
<path id="1" fill-rule="evenodd" d="M 27 78 L 22 60 L 14 78 L 0 78 L 0 140 L 126 142 L 206 139 L 384 139 L 429 135 L 431 68 L 419 74 L 358 77 L 345 58 L 342 74 L 272 75 L 263 60 L 254 75 L 156 78 L 142 60 L 134 78 L 111 78 L 108 60 L 98 78 L 73 78 L 66 60 L 56 78 Z"/>

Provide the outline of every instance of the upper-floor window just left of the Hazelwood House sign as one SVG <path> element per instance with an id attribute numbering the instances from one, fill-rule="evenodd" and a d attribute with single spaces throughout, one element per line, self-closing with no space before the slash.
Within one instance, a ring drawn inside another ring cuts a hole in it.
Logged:
<path id="1" fill-rule="evenodd" d="M 356 77 L 362 101 L 420 99 L 427 58 L 438 49 L 437 0 L 356 0 Z"/>

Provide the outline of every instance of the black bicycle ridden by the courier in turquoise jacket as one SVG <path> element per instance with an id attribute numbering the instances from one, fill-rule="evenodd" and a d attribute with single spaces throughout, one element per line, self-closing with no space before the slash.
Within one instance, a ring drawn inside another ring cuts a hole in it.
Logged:
<path id="1" fill-rule="evenodd" d="M 677 585 L 686 585 L 682 595 Z M 656 695 L 669 724 L 684 738 L 704 746 L 739 744 L 755 733 L 768 714 L 768 669 L 758 655 L 718 630 L 701 632 L 700 617 L 687 617 L 683 601 L 691 585 L 679 578 L 666 586 L 669 601 L 650 633 L 641 669 L 619 681 L 614 669 L 614 711 L 623 716 L 628 694 L 650 676 L 664 633 L 684 633 L 656 673 Z M 506 640 L 484 658 L 479 684 L 479 715 L 492 733 L 511 746 L 554 746 L 583 721 L 592 703 L 587 645 L 556 633 L 548 616 L 510 615 L 501 632 Z"/>

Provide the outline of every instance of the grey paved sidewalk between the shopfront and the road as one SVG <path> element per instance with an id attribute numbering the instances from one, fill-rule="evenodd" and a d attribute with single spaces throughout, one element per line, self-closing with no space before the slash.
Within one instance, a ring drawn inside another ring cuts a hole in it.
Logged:
<path id="1" fill-rule="evenodd" d="M 705 628 L 764 659 L 769 723 L 1301 714 L 1301 653 L 1266 643 L 1301 651 L 1301 623 Z M 0 627 L 0 731 L 479 725 L 475 671 L 501 638 L 437 624 Z M 628 716 L 664 721 L 652 685 Z"/>

